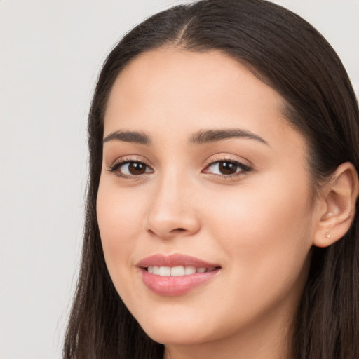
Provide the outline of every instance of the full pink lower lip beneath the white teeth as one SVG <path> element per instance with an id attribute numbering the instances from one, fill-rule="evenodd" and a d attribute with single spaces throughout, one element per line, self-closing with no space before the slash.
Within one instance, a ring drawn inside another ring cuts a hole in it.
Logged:
<path id="1" fill-rule="evenodd" d="M 194 288 L 212 279 L 219 269 L 205 273 L 194 273 L 187 276 L 158 276 L 141 269 L 143 283 L 152 292 L 160 295 L 175 296 L 190 292 Z"/>

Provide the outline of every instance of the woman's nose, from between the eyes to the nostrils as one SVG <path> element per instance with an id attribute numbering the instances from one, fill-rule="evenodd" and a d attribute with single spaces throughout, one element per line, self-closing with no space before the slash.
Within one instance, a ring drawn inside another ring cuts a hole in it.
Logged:
<path id="1" fill-rule="evenodd" d="M 196 189 L 172 173 L 154 184 L 147 212 L 147 232 L 169 239 L 190 236 L 201 228 L 196 210 Z"/>

